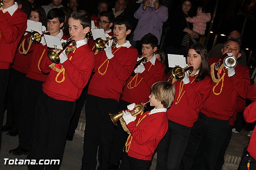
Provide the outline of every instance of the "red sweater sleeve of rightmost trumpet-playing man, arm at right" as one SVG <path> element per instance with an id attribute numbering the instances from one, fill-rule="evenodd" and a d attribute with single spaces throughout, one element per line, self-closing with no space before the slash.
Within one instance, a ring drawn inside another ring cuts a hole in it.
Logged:
<path id="1" fill-rule="evenodd" d="M 240 69 L 235 71 L 240 71 Z M 246 93 L 250 86 L 249 70 L 244 69 L 242 73 L 243 74 L 236 74 L 234 77 L 228 78 L 231 80 L 233 87 L 238 95 L 240 95 L 243 99 L 246 99 Z"/>

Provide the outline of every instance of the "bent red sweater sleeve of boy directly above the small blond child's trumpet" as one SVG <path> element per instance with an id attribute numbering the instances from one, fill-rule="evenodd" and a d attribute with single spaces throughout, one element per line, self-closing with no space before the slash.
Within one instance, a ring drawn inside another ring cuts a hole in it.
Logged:
<path id="1" fill-rule="evenodd" d="M 134 68 L 134 65 L 135 65 L 134 63 L 136 62 L 136 59 L 138 56 L 138 51 L 135 48 L 129 47 L 129 49 L 130 49 L 129 53 L 123 54 L 124 55 L 123 57 L 126 57 L 126 61 L 127 61 L 124 64 L 121 64 L 116 59 L 115 56 L 109 59 L 109 63 L 114 68 L 114 72 L 117 78 L 122 81 L 126 81 L 130 77 L 132 73 L 132 69 Z"/>

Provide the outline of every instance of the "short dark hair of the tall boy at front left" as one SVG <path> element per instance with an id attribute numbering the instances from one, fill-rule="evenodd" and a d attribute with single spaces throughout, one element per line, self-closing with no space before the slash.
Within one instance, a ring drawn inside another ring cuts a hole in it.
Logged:
<path id="1" fill-rule="evenodd" d="M 74 20 L 79 20 L 80 24 L 83 26 L 83 29 L 86 27 L 91 28 L 91 16 L 88 12 L 84 10 L 72 11 L 70 13 L 70 18 Z"/>

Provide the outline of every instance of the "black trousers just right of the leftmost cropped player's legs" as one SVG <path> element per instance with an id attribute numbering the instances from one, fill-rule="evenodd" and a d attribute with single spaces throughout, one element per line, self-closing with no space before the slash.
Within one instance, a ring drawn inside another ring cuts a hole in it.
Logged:
<path id="1" fill-rule="evenodd" d="M 22 102 L 22 88 L 26 74 L 10 68 L 10 77 L 7 87 L 7 119 L 6 125 L 18 128 L 20 108 Z M 11 120 L 10 120 L 11 119 Z"/>

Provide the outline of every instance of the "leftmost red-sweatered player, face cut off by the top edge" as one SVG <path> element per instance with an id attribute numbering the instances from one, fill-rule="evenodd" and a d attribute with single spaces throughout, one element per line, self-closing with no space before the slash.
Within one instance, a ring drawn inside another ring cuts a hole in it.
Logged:
<path id="1" fill-rule="evenodd" d="M 0 5 L 0 150 L 4 98 L 9 81 L 10 64 L 13 62 L 17 45 L 27 26 L 27 15 L 18 8 L 14 0 L 2 0 Z"/>

